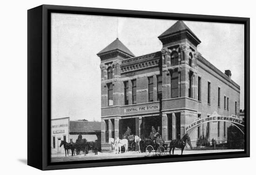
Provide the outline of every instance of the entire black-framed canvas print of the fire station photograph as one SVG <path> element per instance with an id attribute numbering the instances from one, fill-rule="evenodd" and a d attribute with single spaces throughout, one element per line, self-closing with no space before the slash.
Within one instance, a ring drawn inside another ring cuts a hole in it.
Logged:
<path id="1" fill-rule="evenodd" d="M 28 10 L 28 165 L 249 156 L 249 18 Z"/>

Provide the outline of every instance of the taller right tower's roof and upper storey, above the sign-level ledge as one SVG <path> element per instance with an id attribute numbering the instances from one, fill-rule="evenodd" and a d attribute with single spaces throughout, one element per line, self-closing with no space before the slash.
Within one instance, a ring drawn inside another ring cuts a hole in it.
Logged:
<path id="1" fill-rule="evenodd" d="M 166 84 L 171 84 L 168 80 L 174 80 L 174 76 L 177 76 L 179 80 L 178 87 L 175 85 L 175 87 L 172 87 L 172 85 L 170 85 L 170 90 L 165 90 L 165 98 L 196 98 L 195 76 L 197 74 L 197 45 L 200 44 L 201 41 L 181 20 L 177 21 L 174 25 L 164 31 L 158 38 L 163 44 L 163 80 L 165 79 L 164 77 L 168 75 L 171 77 L 166 78 Z"/>

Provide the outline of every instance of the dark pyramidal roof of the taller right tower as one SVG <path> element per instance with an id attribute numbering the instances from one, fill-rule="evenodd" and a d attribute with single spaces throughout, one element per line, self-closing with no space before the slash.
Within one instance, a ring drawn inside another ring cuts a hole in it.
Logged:
<path id="1" fill-rule="evenodd" d="M 182 20 L 177 21 L 174 25 L 164 31 L 158 38 L 161 40 L 162 38 L 172 37 L 183 32 L 188 32 L 190 36 L 196 41 L 196 43 L 201 43 L 201 41 L 196 37 L 195 33 L 191 31 Z"/>

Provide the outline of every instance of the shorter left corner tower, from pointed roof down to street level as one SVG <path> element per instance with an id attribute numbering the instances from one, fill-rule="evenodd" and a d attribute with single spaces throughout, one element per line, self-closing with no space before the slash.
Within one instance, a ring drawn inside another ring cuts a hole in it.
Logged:
<path id="1" fill-rule="evenodd" d="M 101 58 L 101 116 L 102 110 L 110 107 L 105 115 L 113 115 L 115 106 L 124 105 L 124 84 L 121 81 L 122 60 L 134 57 L 134 54 L 116 38 L 97 56 Z M 113 108 L 112 108 L 113 107 Z M 115 119 L 101 118 L 101 149 L 111 150 L 108 138 L 119 137 L 119 117 Z"/>

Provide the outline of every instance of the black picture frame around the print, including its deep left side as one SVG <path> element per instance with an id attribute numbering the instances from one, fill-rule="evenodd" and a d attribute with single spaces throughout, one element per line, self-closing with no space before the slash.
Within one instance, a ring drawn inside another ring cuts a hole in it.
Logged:
<path id="1" fill-rule="evenodd" d="M 176 19 L 244 25 L 245 150 L 240 152 L 76 162 L 50 162 L 51 12 L 151 19 Z M 27 11 L 27 164 L 41 170 L 74 169 L 144 163 L 180 162 L 249 157 L 249 18 L 146 12 L 76 6 L 41 5 Z"/>

